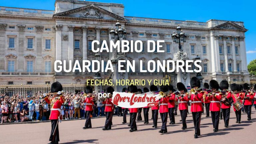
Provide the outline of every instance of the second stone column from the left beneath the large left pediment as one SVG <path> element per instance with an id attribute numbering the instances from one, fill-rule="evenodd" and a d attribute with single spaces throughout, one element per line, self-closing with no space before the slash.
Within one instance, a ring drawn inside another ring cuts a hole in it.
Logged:
<path id="1" fill-rule="evenodd" d="M 74 61 L 74 26 L 68 26 L 68 62 Z M 68 65 L 69 66 L 69 65 Z"/>

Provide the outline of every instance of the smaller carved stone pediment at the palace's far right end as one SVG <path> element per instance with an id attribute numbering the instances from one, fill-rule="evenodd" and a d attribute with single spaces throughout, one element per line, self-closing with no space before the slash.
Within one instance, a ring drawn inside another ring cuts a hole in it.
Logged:
<path id="1" fill-rule="evenodd" d="M 224 30 L 245 31 L 245 32 L 247 31 L 247 29 L 245 29 L 244 27 L 239 26 L 238 24 L 235 24 L 231 21 L 226 22 L 224 24 L 220 24 L 216 27 L 213 27 L 212 29 L 219 29 L 219 30 L 224 29 Z"/>

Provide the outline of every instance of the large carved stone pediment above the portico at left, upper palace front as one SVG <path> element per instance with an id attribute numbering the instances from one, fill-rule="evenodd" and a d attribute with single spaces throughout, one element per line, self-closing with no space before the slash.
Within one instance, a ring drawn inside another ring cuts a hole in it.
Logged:
<path id="1" fill-rule="evenodd" d="M 53 15 L 54 18 L 81 18 L 81 19 L 106 19 L 106 20 L 120 20 L 127 21 L 125 18 L 111 13 L 103 8 L 95 6 L 94 4 L 76 8 L 73 10 L 61 12 Z"/>

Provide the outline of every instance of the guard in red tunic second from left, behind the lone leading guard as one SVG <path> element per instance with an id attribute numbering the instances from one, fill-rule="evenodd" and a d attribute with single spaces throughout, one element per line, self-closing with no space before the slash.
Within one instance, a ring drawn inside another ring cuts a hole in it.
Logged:
<path id="1" fill-rule="evenodd" d="M 93 96 L 92 96 L 92 87 L 91 86 L 86 86 L 85 92 L 87 94 L 86 99 L 84 100 L 85 105 L 85 112 L 86 112 L 86 121 L 84 124 L 83 129 L 87 128 L 92 128 L 92 123 L 91 123 L 91 112 L 93 110 Z"/>

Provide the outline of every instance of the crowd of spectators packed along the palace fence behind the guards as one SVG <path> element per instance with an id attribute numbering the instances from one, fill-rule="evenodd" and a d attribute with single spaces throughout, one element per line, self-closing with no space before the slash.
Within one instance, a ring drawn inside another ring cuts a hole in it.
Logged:
<path id="1" fill-rule="evenodd" d="M 41 121 L 48 120 L 50 116 L 50 104 L 42 98 L 43 93 L 40 91 L 33 96 L 22 96 L 13 94 L 1 94 L 0 96 L 0 122 L 13 123 L 24 121 Z M 52 95 L 49 97 L 52 98 Z M 85 119 L 85 96 L 78 93 L 67 92 L 64 94 L 65 102 L 61 106 L 62 119 Z M 94 98 L 93 111 L 91 117 L 105 116 L 105 104 L 103 99 Z M 123 116 L 121 107 L 115 106 L 114 115 Z"/>

